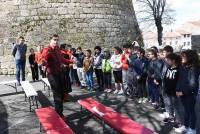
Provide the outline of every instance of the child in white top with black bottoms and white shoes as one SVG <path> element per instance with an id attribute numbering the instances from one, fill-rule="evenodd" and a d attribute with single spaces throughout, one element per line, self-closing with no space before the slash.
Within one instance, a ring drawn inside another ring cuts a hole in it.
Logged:
<path id="1" fill-rule="evenodd" d="M 113 75 L 115 79 L 114 94 L 122 95 L 124 93 L 123 85 L 122 85 L 122 63 L 121 63 L 122 50 L 119 47 L 114 47 L 113 51 L 114 51 L 114 54 L 111 57 L 111 64 L 112 64 Z M 120 89 L 118 89 L 118 87 Z"/>

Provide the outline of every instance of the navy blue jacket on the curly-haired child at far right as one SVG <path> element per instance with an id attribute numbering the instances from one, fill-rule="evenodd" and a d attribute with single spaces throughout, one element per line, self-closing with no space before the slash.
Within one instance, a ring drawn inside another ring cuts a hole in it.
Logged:
<path id="1" fill-rule="evenodd" d="M 194 67 L 181 67 L 176 91 L 184 95 L 197 95 L 199 70 Z"/>

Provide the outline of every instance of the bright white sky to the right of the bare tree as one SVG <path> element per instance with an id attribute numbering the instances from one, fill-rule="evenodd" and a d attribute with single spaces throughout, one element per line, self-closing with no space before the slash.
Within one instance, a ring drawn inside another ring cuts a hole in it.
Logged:
<path id="1" fill-rule="evenodd" d="M 175 10 L 176 21 L 169 26 L 171 29 L 180 27 L 187 21 L 200 20 L 200 0 L 167 0 L 167 2 Z M 137 9 L 137 7 L 135 8 Z"/>

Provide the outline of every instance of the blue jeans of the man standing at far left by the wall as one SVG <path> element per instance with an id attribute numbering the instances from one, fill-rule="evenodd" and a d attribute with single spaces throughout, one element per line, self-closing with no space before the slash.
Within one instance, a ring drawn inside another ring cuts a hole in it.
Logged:
<path id="1" fill-rule="evenodd" d="M 20 82 L 20 72 L 22 73 L 22 81 L 25 81 L 25 65 L 26 60 L 16 60 L 16 79 Z"/>

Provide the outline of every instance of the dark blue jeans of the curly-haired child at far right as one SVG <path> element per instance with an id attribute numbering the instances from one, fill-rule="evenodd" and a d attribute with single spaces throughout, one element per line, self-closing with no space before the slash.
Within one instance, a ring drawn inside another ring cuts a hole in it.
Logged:
<path id="1" fill-rule="evenodd" d="M 187 128 L 195 129 L 196 114 L 195 114 L 195 103 L 196 96 L 188 95 L 181 97 L 181 102 L 184 107 L 184 125 Z"/>

